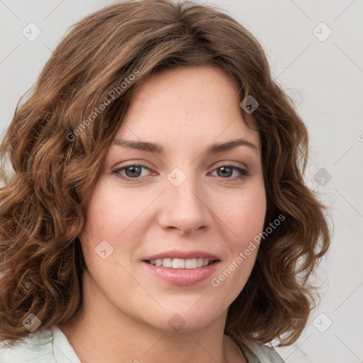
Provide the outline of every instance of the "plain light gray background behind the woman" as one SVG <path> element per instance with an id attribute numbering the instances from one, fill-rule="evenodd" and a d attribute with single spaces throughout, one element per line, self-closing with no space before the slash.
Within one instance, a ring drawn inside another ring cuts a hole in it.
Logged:
<path id="1" fill-rule="evenodd" d="M 112 2 L 0 0 L 2 133 L 65 30 Z M 363 2 L 197 2 L 228 11 L 262 43 L 274 77 L 308 125 L 306 183 L 331 207 L 333 246 L 315 277 L 320 306 L 299 340 L 277 350 L 288 363 L 363 362 Z M 30 22 L 41 30 L 33 41 L 22 33 L 30 33 Z"/>

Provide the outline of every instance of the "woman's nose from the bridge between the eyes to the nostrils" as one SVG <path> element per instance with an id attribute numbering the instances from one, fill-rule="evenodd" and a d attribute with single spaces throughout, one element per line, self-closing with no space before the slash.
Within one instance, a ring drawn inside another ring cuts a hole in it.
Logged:
<path id="1" fill-rule="evenodd" d="M 186 169 L 185 167 L 184 170 Z M 189 167 L 184 172 L 176 167 L 167 175 L 164 206 L 160 216 L 163 228 L 177 228 L 187 233 L 211 223 L 210 211 L 203 202 L 200 180 L 192 174 L 192 169 Z"/>

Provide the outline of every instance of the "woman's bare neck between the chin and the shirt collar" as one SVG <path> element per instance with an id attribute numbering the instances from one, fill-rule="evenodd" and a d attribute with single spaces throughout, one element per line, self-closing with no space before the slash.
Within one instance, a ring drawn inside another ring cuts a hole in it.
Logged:
<path id="1" fill-rule="evenodd" d="M 135 320 L 108 301 L 91 279 L 84 282 L 84 296 L 92 298 L 84 298 L 79 320 L 58 325 L 81 362 L 247 362 L 223 335 L 227 311 L 205 328 L 170 333 Z"/>

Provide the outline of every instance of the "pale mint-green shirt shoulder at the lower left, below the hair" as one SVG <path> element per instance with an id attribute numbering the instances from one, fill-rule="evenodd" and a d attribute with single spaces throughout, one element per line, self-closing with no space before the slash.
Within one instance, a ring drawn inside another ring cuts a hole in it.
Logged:
<path id="1" fill-rule="evenodd" d="M 19 340 L 0 340 L 1 363 L 81 363 L 57 326 L 30 333 Z"/>

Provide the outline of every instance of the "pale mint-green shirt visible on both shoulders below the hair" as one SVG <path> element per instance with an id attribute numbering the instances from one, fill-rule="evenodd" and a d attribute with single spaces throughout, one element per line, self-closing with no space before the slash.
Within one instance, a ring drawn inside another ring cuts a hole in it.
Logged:
<path id="1" fill-rule="evenodd" d="M 266 345 L 249 343 L 243 349 L 248 363 L 284 363 Z M 81 363 L 67 337 L 57 326 L 37 330 L 20 340 L 0 341 L 0 363 Z"/>

